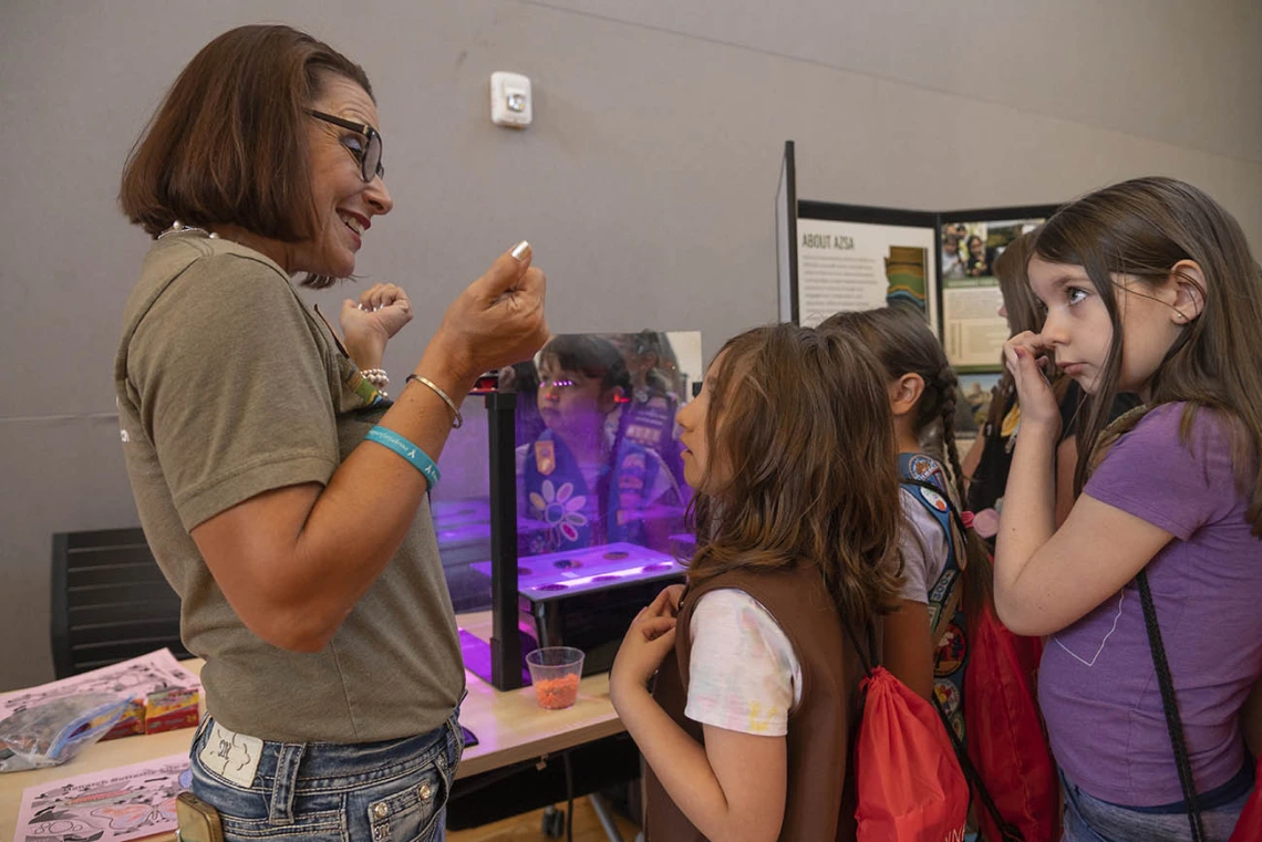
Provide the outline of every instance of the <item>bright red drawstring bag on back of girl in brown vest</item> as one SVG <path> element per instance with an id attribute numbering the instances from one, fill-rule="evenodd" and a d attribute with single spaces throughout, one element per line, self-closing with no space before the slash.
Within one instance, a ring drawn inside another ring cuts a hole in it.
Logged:
<path id="1" fill-rule="evenodd" d="M 849 629 L 847 628 L 847 632 Z M 933 705 L 885 667 L 859 682 L 853 774 L 858 842 L 962 842 L 968 783 Z"/>

